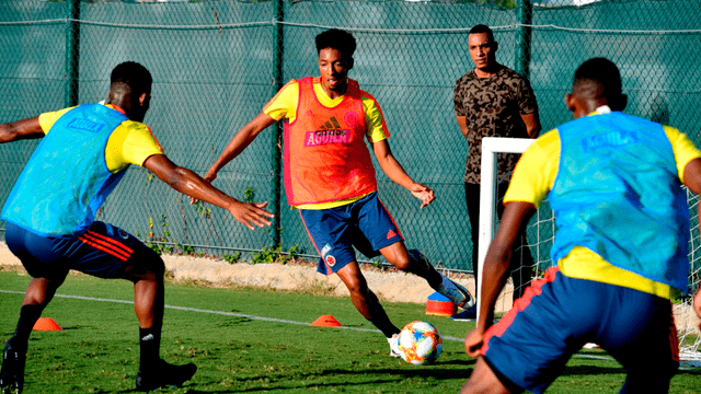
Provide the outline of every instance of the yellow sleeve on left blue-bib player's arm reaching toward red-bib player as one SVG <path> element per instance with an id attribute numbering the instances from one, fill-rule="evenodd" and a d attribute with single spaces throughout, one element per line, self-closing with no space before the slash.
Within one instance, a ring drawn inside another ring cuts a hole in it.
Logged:
<path id="1" fill-rule="evenodd" d="M 143 166 L 146 159 L 153 154 L 164 154 L 163 149 L 148 126 L 134 120 L 123 121 L 112 132 L 105 147 L 105 162 L 112 173 L 129 164 Z"/>

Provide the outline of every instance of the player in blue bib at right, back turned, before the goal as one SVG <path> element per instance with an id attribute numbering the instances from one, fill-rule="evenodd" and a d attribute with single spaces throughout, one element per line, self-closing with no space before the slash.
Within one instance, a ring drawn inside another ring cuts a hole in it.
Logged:
<path id="1" fill-rule="evenodd" d="M 524 153 L 483 271 L 480 318 L 464 339 L 479 357 L 462 393 L 542 393 L 585 344 L 627 371 L 621 393 L 666 393 L 679 366 L 670 299 L 689 290 L 686 185 L 701 193 L 701 152 L 679 130 L 623 114 L 618 68 L 604 58 L 575 72 L 574 120 Z M 548 197 L 558 224 L 552 260 L 490 327 L 512 245 Z M 701 318 L 701 293 L 694 310 Z"/>

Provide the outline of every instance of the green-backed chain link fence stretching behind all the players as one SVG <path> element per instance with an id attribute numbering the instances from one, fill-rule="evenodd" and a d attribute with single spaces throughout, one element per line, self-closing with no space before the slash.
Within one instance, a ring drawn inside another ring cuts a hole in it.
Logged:
<path id="1" fill-rule="evenodd" d="M 468 146 L 455 119 L 452 89 L 474 67 L 468 53 L 473 25 L 490 25 L 499 44 L 497 60 L 529 78 L 543 130 L 571 119 L 563 96 L 576 67 L 604 56 L 621 69 L 629 113 L 701 139 L 700 2 L 494 3 L 499 5 L 5 0 L 0 2 L 0 121 L 104 100 L 112 68 L 135 60 L 153 76 L 146 123 L 171 160 L 204 174 L 285 82 L 318 76 L 314 36 L 345 28 L 358 42 L 350 78 L 382 107 L 394 155 L 437 196 L 420 210 L 420 201 L 377 166 L 382 201 L 409 247 L 422 250 L 434 265 L 471 271 L 462 181 Z M 135 166 L 99 219 L 145 241 L 197 253 L 228 255 L 279 244 L 318 256 L 297 211 L 286 204 L 279 136 L 279 128 L 264 131 L 215 181 L 239 199 L 271 201 L 278 213 L 271 230 L 252 232 L 223 210 L 189 206 Z M 36 143 L 0 144 L 2 204 Z M 0 236 L 4 225 L 0 222 Z"/>

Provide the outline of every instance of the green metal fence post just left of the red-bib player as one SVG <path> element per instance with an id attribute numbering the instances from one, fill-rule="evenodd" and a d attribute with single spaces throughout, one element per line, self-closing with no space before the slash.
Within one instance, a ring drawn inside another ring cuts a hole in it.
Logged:
<path id="1" fill-rule="evenodd" d="M 276 0 L 274 8 L 274 24 L 273 24 L 273 95 L 275 95 L 283 88 L 283 55 L 284 55 L 284 36 L 283 24 L 284 11 L 283 1 Z M 273 179 L 271 187 L 271 210 L 275 215 L 273 218 L 273 247 L 281 245 L 281 220 L 280 220 L 280 174 L 283 169 L 283 123 L 275 123 L 273 132 L 273 143 L 271 154 L 273 155 Z"/>

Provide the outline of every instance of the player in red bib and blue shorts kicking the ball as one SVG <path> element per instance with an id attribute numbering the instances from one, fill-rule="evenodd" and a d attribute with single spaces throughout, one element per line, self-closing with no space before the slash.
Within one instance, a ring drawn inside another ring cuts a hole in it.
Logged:
<path id="1" fill-rule="evenodd" d="M 459 306 L 473 304 L 460 285 L 439 274 L 418 251 L 407 251 L 399 228 L 380 201 L 366 139 L 382 171 L 422 201 L 434 190 L 414 182 L 397 161 L 380 106 L 358 82 L 348 79 L 356 42 L 330 30 L 317 36 L 320 77 L 288 82 L 253 120 L 233 137 L 205 179 L 240 154 L 275 121 L 285 123 L 285 192 L 299 209 L 309 236 L 321 256 L 319 271 L 336 274 L 348 288 L 358 312 L 378 327 L 400 356 L 392 324 L 358 267 L 353 246 L 367 256 L 382 254 L 394 267 L 425 278 L 436 291 Z"/>

